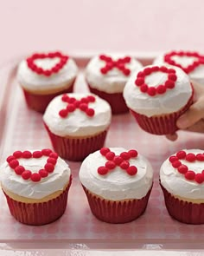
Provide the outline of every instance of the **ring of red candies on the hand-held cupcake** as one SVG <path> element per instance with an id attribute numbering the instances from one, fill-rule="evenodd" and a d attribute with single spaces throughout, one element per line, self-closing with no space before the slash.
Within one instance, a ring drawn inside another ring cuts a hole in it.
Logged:
<path id="1" fill-rule="evenodd" d="M 147 75 L 150 75 L 155 72 L 163 72 L 168 75 L 168 79 L 166 82 L 163 84 L 159 84 L 157 87 L 150 87 L 146 82 L 145 82 L 145 77 Z M 143 71 L 140 71 L 137 74 L 137 79 L 135 81 L 135 84 L 141 92 L 147 93 L 150 96 L 155 96 L 155 95 L 163 95 L 167 89 L 174 89 L 175 88 L 175 81 L 177 80 L 177 76 L 175 75 L 175 69 L 168 69 L 167 67 L 157 67 L 157 66 L 152 66 L 143 69 Z"/>

